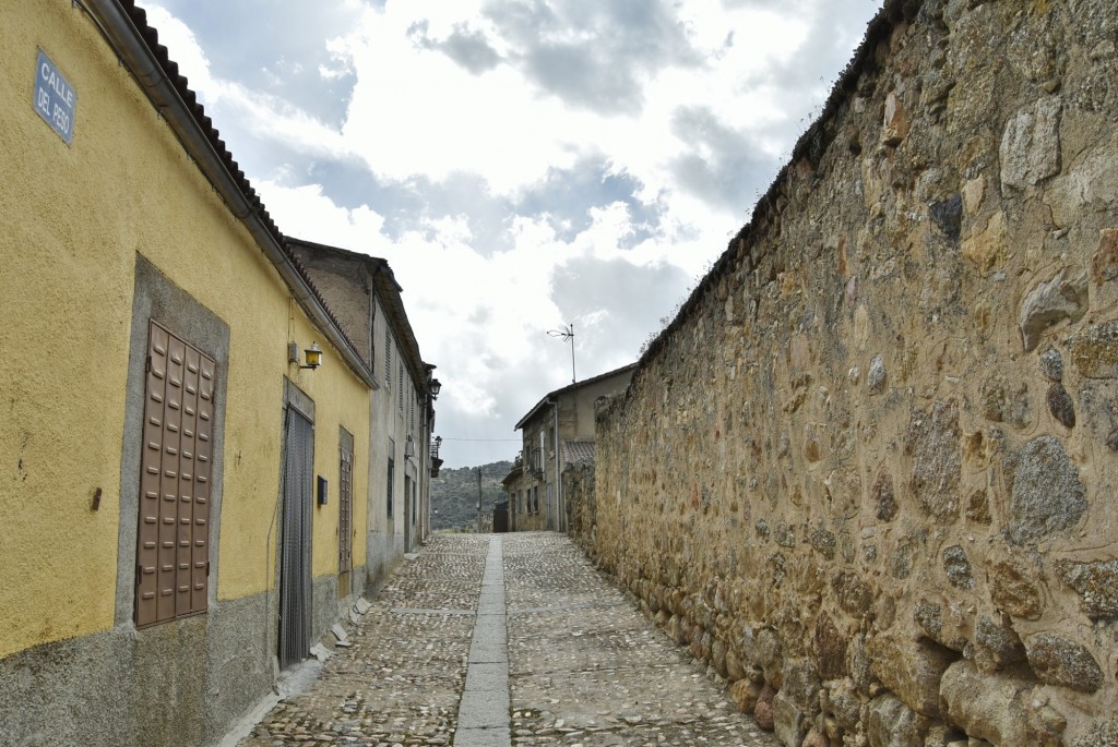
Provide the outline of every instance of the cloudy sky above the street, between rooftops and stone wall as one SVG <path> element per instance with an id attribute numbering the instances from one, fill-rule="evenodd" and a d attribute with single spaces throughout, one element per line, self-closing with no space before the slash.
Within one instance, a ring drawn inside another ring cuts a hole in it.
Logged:
<path id="1" fill-rule="evenodd" d="M 140 0 L 280 229 L 388 259 L 448 467 L 635 361 L 880 0 Z"/>

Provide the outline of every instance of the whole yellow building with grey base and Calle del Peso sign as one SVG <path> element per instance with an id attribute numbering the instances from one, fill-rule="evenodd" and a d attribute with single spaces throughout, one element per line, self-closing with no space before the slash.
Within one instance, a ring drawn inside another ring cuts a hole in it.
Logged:
<path id="1" fill-rule="evenodd" d="M 0 42 L 0 741 L 212 744 L 366 588 L 371 351 L 131 0 Z"/>

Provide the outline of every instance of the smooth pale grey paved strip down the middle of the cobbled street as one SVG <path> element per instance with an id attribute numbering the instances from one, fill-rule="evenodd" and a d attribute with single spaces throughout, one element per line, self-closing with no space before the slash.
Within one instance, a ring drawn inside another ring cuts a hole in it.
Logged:
<path id="1" fill-rule="evenodd" d="M 501 537 L 490 540 L 454 747 L 510 747 L 509 639 Z"/>

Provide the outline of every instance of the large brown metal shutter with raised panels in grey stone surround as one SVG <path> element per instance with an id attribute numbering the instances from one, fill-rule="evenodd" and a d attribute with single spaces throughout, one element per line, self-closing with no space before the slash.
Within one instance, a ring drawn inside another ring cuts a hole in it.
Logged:
<path id="1" fill-rule="evenodd" d="M 217 364 L 151 322 L 140 458 L 136 626 L 203 613 Z"/>

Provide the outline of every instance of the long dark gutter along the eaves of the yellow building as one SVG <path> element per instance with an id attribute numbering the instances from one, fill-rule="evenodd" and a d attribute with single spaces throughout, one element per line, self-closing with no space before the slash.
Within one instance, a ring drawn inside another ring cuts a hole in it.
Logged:
<path id="1" fill-rule="evenodd" d="M 195 119 L 190 107 L 179 96 L 174 84 L 167 77 L 159 58 L 148 48 L 140 35 L 140 30 L 132 22 L 127 11 L 121 7 L 116 0 L 84 0 L 86 10 L 91 13 L 102 33 L 108 40 L 113 51 L 124 63 L 129 71 L 136 79 L 146 93 L 148 98 L 160 116 L 170 123 L 174 130 L 179 142 L 183 149 L 195 160 L 201 169 L 206 179 L 209 180 L 214 189 L 225 201 L 226 207 L 234 217 L 245 224 L 253 236 L 256 245 L 264 251 L 264 255 L 278 270 L 281 277 L 291 288 L 299 301 L 315 325 L 322 329 L 330 343 L 338 349 L 347 365 L 366 383 L 370 389 L 380 389 L 372 371 L 364 364 L 345 336 L 330 318 L 325 306 L 318 299 L 311 290 L 291 259 L 284 251 L 281 241 L 282 234 L 278 230 L 273 233 L 272 229 L 260 216 L 256 208 L 240 189 L 238 180 L 229 173 L 225 161 L 217 149 L 210 143 L 207 133 Z"/>

